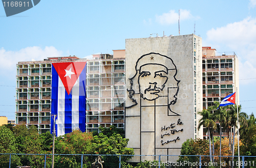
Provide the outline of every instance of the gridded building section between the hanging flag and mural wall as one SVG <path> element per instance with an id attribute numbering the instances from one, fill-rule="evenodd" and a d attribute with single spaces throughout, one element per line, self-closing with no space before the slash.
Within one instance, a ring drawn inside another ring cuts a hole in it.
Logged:
<path id="1" fill-rule="evenodd" d="M 98 127 L 124 129 L 125 50 L 93 55 L 87 62 L 87 131 Z"/>

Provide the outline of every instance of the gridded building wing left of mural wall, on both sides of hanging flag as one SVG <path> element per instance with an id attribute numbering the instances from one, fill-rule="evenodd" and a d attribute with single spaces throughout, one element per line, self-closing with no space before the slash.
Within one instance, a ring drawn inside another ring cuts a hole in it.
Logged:
<path id="1" fill-rule="evenodd" d="M 116 56 L 116 57 L 115 57 Z M 117 58 L 120 57 L 120 58 Z M 50 131 L 52 108 L 52 63 L 87 62 L 86 130 L 99 126 L 124 128 L 125 50 L 18 62 L 16 76 L 16 124 L 35 125 L 40 133 Z"/>

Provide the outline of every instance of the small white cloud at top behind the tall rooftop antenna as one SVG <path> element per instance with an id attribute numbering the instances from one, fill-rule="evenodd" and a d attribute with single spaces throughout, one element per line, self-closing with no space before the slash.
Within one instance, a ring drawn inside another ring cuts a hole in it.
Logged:
<path id="1" fill-rule="evenodd" d="M 190 14 L 190 11 L 181 9 L 180 10 L 180 20 L 186 20 L 186 19 L 198 19 L 199 17 L 194 17 Z M 170 10 L 168 13 L 163 13 L 162 15 L 158 16 L 156 15 L 156 21 L 160 24 L 174 24 L 178 23 L 179 19 L 179 12 L 175 12 L 175 10 Z"/>

